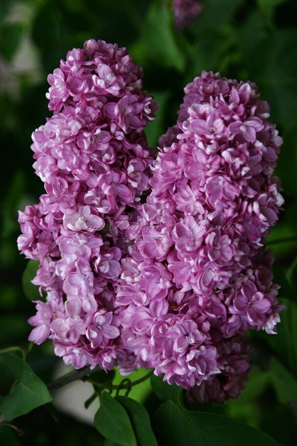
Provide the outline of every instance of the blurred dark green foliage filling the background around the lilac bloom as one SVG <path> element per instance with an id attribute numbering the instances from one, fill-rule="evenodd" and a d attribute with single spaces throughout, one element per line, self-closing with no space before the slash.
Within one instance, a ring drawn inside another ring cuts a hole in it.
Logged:
<path id="1" fill-rule="evenodd" d="M 36 203 L 43 193 L 31 167 L 30 136 L 49 116 L 47 75 L 66 52 L 89 38 L 127 47 L 144 68 L 145 88 L 160 104 L 157 120 L 147 129 L 153 146 L 175 122 L 183 87 L 202 69 L 252 80 L 271 105 L 272 122 L 284 138 L 276 174 L 284 188 L 286 211 L 268 244 L 276 259 L 275 281 L 282 286 L 279 296 L 288 310 L 281 315 L 277 336 L 249 335 L 253 366 L 241 396 L 200 410 L 243 420 L 281 444 L 297 445 L 296 17 L 295 0 L 204 0 L 202 13 L 187 29 L 177 31 L 170 1 L 0 1 L 1 348 L 27 345 L 27 318 L 34 312 L 30 299 L 36 298 L 36 289 L 30 284 L 32 265 L 16 247 L 17 210 Z M 34 346 L 28 355 L 28 363 L 46 383 L 57 362 L 50 342 Z M 10 378 L 2 363 L 0 374 L 0 394 L 5 394 Z M 145 382 L 131 395 L 145 403 L 148 411 L 158 405 L 149 386 Z M 50 406 L 34 410 L 16 424 L 24 430 L 24 437 L 8 426 L 0 427 L 1 445 L 103 444 L 94 427 L 61 414 L 56 421 Z"/>

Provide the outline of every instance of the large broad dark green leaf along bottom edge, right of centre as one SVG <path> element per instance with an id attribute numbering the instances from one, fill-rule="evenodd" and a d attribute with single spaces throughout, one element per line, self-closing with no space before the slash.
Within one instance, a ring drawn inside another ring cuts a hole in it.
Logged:
<path id="1" fill-rule="evenodd" d="M 277 446 L 267 434 L 223 415 L 192 412 L 166 401 L 154 418 L 162 446 Z"/>

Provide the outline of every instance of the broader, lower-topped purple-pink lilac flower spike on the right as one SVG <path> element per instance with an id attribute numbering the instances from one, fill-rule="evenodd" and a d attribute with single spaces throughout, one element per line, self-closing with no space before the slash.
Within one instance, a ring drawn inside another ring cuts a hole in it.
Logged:
<path id="1" fill-rule="evenodd" d="M 264 237 L 283 203 L 272 176 L 282 143 L 251 82 L 212 72 L 185 88 L 160 138 L 151 193 L 117 303 L 124 345 L 200 401 L 236 397 L 249 369 L 242 335 L 275 333 L 278 286 Z"/>

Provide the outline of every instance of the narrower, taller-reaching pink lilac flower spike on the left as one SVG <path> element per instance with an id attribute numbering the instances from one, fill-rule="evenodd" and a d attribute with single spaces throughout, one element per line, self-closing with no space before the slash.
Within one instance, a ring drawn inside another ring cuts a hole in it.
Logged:
<path id="1" fill-rule="evenodd" d="M 106 228 L 148 189 L 152 152 L 143 129 L 156 104 L 124 48 L 88 40 L 49 75 L 53 115 L 32 135 L 46 193 L 19 214 L 18 247 L 40 262 L 29 340 L 51 338 L 74 367 L 125 365 L 115 287 L 126 246 Z M 103 229 L 104 228 L 104 229 Z M 133 363 L 134 364 L 134 363 Z"/>

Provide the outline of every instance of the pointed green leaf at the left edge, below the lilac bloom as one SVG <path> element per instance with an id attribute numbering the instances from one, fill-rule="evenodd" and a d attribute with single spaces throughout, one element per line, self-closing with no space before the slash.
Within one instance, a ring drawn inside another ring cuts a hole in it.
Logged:
<path id="1" fill-rule="evenodd" d="M 18 380 L 0 401 L 0 411 L 6 420 L 11 421 L 51 401 L 47 386 L 23 359 L 10 353 L 3 353 L 2 357 L 4 364 Z"/>

